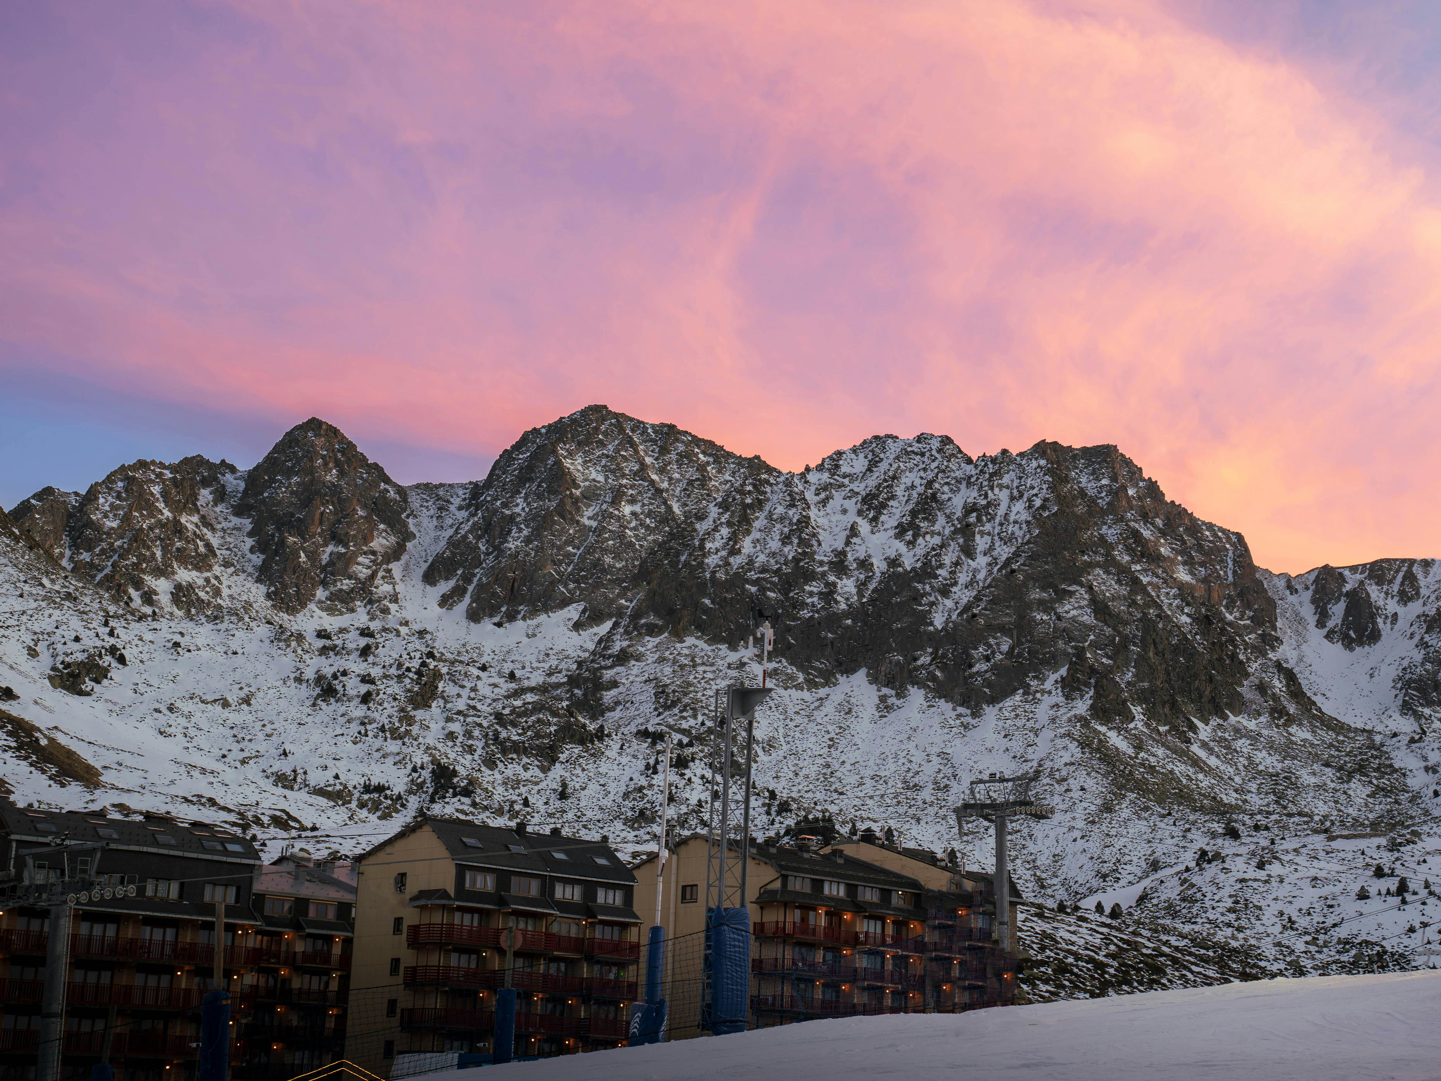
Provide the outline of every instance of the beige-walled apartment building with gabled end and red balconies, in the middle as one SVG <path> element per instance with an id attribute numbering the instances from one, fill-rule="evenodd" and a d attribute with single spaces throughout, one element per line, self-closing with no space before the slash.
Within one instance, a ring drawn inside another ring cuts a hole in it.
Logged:
<path id="1" fill-rule="evenodd" d="M 347 1056 L 488 1055 L 496 990 L 517 990 L 516 1054 L 618 1046 L 637 996 L 635 876 L 601 840 L 421 819 L 357 860 Z"/>

